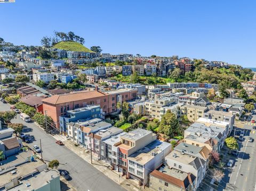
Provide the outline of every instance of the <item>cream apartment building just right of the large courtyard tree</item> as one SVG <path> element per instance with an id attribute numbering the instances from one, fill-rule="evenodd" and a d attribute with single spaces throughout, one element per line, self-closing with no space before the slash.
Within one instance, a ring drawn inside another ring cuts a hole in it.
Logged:
<path id="1" fill-rule="evenodd" d="M 202 118 L 204 113 L 208 110 L 207 107 L 197 105 L 182 105 L 180 109 L 181 114 L 186 115 L 191 122 L 195 122 L 198 118 Z"/>

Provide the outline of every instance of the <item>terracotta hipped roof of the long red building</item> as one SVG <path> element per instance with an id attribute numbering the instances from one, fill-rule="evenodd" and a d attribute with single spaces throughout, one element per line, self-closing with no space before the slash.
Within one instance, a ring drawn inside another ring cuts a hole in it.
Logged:
<path id="1" fill-rule="evenodd" d="M 82 92 L 82 93 L 73 93 L 73 94 L 64 94 L 64 95 L 53 95 L 51 97 L 47 97 L 43 99 L 43 103 L 50 103 L 50 104 L 61 104 L 67 102 L 75 102 L 83 99 L 90 99 L 94 97 L 102 97 L 106 94 L 98 92 L 98 91 L 91 91 L 91 92 Z"/>

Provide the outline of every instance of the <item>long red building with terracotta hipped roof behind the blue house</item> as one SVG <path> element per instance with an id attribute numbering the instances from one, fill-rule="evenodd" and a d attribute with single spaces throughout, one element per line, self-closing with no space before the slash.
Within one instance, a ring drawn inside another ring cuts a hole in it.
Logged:
<path id="1" fill-rule="evenodd" d="M 51 116 L 57 128 L 60 127 L 59 117 L 66 115 L 68 110 L 97 104 L 102 112 L 108 114 L 116 111 L 117 102 L 130 101 L 137 97 L 135 89 L 118 89 L 109 92 L 84 91 L 72 94 L 53 95 L 42 99 L 44 114 Z M 66 110 L 65 110 L 66 108 Z"/>

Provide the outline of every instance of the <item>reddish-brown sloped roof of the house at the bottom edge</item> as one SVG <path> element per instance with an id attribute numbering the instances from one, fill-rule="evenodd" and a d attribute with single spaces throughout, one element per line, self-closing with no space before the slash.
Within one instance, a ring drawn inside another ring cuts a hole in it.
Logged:
<path id="1" fill-rule="evenodd" d="M 164 180 L 165 182 L 169 182 L 170 184 L 177 186 L 179 188 L 183 187 L 183 188 L 187 188 L 190 184 L 191 179 L 189 180 L 189 178 L 191 177 L 187 177 L 184 181 L 172 177 L 170 175 L 167 175 L 166 173 L 160 172 L 158 170 L 154 170 L 153 172 L 150 173 L 151 176 L 154 176 L 158 179 Z"/>

